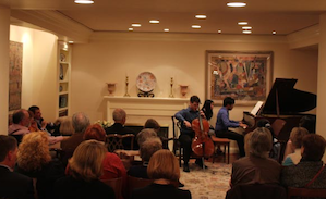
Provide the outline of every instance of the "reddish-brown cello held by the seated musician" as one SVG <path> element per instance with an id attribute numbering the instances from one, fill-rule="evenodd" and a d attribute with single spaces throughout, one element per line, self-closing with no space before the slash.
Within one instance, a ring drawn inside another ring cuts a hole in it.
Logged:
<path id="1" fill-rule="evenodd" d="M 203 158 L 209 158 L 214 153 L 214 144 L 208 137 L 209 123 L 202 119 L 201 114 L 192 121 L 192 129 L 195 132 L 195 138 L 192 142 L 193 152 Z"/>

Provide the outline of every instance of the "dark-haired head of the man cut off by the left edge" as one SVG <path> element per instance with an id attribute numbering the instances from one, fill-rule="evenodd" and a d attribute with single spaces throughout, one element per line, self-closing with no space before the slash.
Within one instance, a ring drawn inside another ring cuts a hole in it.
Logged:
<path id="1" fill-rule="evenodd" d="M 11 169 L 16 163 L 17 140 L 12 136 L 0 135 L 0 164 Z"/>

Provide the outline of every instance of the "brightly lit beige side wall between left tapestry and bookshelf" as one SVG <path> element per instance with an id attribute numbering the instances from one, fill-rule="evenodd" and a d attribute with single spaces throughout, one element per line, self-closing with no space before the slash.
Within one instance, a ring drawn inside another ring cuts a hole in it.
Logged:
<path id="1" fill-rule="evenodd" d="M 10 26 L 10 40 L 23 42 L 22 108 L 38 105 L 47 121 L 56 120 L 57 36 Z"/>

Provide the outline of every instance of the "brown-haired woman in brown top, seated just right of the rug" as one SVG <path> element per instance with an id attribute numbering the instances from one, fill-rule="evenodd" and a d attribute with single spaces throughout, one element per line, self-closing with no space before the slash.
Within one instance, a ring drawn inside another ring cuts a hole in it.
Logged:
<path id="1" fill-rule="evenodd" d="M 279 184 L 281 165 L 270 159 L 271 135 L 257 127 L 249 138 L 249 157 L 233 162 L 231 187 L 238 184 Z"/>

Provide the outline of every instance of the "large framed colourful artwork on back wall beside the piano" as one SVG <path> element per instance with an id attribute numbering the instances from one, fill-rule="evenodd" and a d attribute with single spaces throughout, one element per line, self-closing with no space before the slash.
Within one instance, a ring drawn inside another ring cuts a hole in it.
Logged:
<path id="1" fill-rule="evenodd" d="M 265 100 L 271 86 L 273 52 L 206 51 L 206 97 Z"/>

